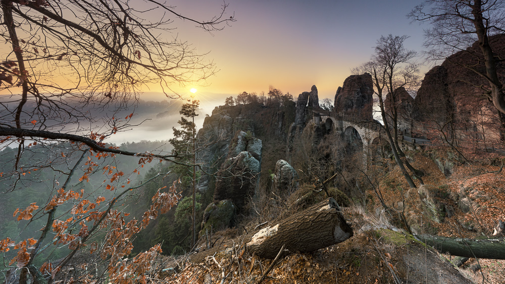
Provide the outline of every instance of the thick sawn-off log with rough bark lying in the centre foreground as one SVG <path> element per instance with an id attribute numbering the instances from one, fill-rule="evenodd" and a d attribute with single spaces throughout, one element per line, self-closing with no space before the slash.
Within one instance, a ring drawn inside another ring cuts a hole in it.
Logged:
<path id="1" fill-rule="evenodd" d="M 246 244 L 264 258 L 274 258 L 284 245 L 289 252 L 313 252 L 338 244 L 352 236 L 338 204 L 328 198 L 304 211 L 261 229 Z"/>

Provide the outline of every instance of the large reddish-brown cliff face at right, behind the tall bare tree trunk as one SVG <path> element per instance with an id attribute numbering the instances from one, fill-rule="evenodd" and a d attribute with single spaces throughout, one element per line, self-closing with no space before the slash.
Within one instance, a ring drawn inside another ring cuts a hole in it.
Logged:
<path id="1" fill-rule="evenodd" d="M 491 37 L 490 44 L 497 56 L 505 56 L 505 35 Z M 497 111 L 485 95 L 489 83 L 465 66 L 485 73 L 477 42 L 426 74 L 413 105 L 414 131 L 429 133 L 444 127 L 449 138 L 489 147 L 499 143 Z M 498 76 L 505 81 L 502 65 Z"/>

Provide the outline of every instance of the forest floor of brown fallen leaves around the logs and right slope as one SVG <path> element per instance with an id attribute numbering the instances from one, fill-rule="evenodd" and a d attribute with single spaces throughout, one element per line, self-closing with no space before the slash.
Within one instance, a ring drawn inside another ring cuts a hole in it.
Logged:
<path id="1" fill-rule="evenodd" d="M 430 222 L 438 235 L 491 236 L 497 221 L 505 220 L 505 173 L 492 164 L 455 165 L 445 176 L 432 159 L 415 155 L 413 166 L 426 173 L 425 183 L 439 189 L 437 199 L 445 205 L 444 221 Z M 380 189 L 386 204 L 396 208 L 408 186 L 396 171 L 381 181 Z M 470 200 L 466 212 L 459 204 L 465 198 Z M 210 250 L 170 261 L 165 258 L 164 269 L 157 270 L 151 279 L 205 284 L 259 283 L 262 276 L 261 283 L 505 283 L 505 260 L 471 258 L 456 268 L 450 264 L 453 256 L 439 254 L 396 229 L 401 226 L 374 204 L 380 203 L 374 200 L 367 206 L 343 209 L 355 231 L 350 239 L 313 253 L 282 256 L 268 273 L 272 260 L 247 252 L 246 236 L 236 236 L 237 230 L 230 230 L 217 234 L 221 239 Z"/>

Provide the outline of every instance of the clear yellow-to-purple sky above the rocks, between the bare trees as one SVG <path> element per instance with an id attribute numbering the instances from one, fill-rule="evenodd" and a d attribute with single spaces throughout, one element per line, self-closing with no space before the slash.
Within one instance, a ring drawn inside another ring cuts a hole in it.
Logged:
<path id="1" fill-rule="evenodd" d="M 170 3 L 186 16 L 205 20 L 223 5 L 220 0 Z M 350 70 L 370 58 L 381 35 L 409 35 L 406 48 L 421 52 L 427 28 L 406 17 L 421 0 L 227 3 L 226 16 L 234 14 L 236 22 L 221 31 L 209 33 L 188 21 L 174 23 L 178 37 L 200 53 L 209 52 L 207 58 L 220 70 L 207 86 L 196 87 L 197 98 L 207 106 L 242 91 L 268 91 L 270 85 L 296 99 L 315 84 L 320 99 L 333 99 Z"/>

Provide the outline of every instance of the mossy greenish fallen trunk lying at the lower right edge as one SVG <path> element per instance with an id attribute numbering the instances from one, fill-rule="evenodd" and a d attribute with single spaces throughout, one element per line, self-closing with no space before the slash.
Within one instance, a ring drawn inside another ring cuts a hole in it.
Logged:
<path id="1" fill-rule="evenodd" d="M 446 236 L 414 234 L 416 238 L 441 253 L 454 256 L 505 259 L 505 239 L 463 239 Z"/>

